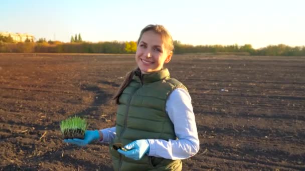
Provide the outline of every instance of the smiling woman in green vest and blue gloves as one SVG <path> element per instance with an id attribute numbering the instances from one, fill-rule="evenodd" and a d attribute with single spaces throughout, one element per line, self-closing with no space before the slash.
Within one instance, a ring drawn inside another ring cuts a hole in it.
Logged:
<path id="1" fill-rule="evenodd" d="M 162 25 L 147 25 L 137 41 L 137 68 L 120 85 L 116 125 L 86 130 L 85 138 L 65 139 L 85 145 L 110 143 L 114 170 L 182 170 L 181 159 L 195 155 L 199 139 L 186 86 L 164 68 L 173 55 L 173 39 Z"/>

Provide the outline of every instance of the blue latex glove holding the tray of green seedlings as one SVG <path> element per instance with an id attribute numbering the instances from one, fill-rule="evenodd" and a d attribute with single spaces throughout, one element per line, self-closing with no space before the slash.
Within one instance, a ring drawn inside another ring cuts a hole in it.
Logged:
<path id="1" fill-rule="evenodd" d="M 99 137 L 100 136 L 99 136 L 98 130 L 85 130 L 84 139 L 80 139 L 80 138 L 64 139 L 64 142 L 84 146 L 93 140 L 99 139 Z"/>

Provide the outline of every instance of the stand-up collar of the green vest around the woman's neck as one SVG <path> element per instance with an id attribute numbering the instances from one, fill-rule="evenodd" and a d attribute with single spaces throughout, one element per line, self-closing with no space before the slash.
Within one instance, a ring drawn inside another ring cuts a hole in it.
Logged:
<path id="1" fill-rule="evenodd" d="M 170 77 L 170 72 L 168 68 L 163 68 L 157 72 L 152 72 L 147 74 L 141 74 L 141 70 L 137 68 L 136 70 L 134 70 L 134 75 L 132 79 L 136 80 L 137 82 L 149 83 L 149 82 L 163 80 L 169 77 Z"/>

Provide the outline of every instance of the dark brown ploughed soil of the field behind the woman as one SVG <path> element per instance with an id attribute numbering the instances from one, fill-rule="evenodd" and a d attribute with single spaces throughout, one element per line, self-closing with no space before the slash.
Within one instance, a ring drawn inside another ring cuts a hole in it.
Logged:
<path id="1" fill-rule="evenodd" d="M 0 53 L 0 170 L 112 170 L 107 145 L 63 142 L 60 120 L 115 125 L 133 55 Z M 305 170 L 305 57 L 174 55 L 199 152 L 183 170 Z"/>

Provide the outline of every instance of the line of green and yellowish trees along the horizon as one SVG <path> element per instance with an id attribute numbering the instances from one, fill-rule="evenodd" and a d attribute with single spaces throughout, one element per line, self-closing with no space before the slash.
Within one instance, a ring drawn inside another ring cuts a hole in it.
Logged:
<path id="1" fill-rule="evenodd" d="M 288 46 L 285 44 L 268 45 L 254 49 L 251 44 L 232 45 L 191 45 L 174 41 L 174 53 L 236 53 L 269 56 L 305 56 L 305 46 Z M 14 42 L 12 37 L 0 35 L 0 52 L 51 52 L 51 53 L 134 53 L 135 41 L 86 42 L 80 33 L 71 36 L 69 43 L 47 41 L 39 38 L 36 42 Z"/>

